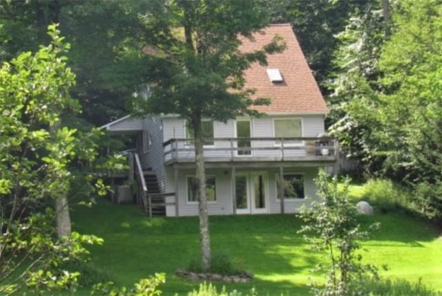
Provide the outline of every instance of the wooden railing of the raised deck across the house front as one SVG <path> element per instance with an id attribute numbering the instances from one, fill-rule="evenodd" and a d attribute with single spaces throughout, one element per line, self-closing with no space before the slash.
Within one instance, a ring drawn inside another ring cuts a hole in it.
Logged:
<path id="1" fill-rule="evenodd" d="M 213 160 L 336 160 L 335 138 L 204 138 L 204 158 Z M 166 162 L 195 158 L 193 139 L 172 138 L 163 143 Z"/>

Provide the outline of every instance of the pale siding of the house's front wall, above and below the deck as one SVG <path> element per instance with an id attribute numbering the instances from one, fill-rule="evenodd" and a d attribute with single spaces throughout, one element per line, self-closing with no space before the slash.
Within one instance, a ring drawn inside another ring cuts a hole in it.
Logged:
<path id="1" fill-rule="evenodd" d="M 324 131 L 323 115 L 303 115 L 302 117 L 291 116 L 295 118 L 302 118 L 302 136 L 315 137 L 318 133 Z M 251 119 L 251 136 L 256 138 L 273 137 L 273 118 L 270 116 L 264 116 L 262 118 Z M 185 138 L 184 120 L 180 118 L 163 118 L 163 135 L 164 141 L 171 138 Z M 213 124 L 214 138 L 235 138 L 236 137 L 236 121 L 228 120 L 224 122 L 214 122 Z M 184 143 L 182 143 L 184 146 Z M 265 147 L 273 147 L 274 142 L 254 142 L 253 147 L 257 145 Z M 230 147 L 229 142 L 215 141 L 215 147 Z M 275 146 L 275 150 L 262 150 L 253 151 L 253 156 L 280 156 L 280 147 Z M 303 149 L 299 150 L 286 150 L 285 155 L 305 155 Z M 231 156 L 230 151 L 204 151 L 204 156 L 213 157 L 227 157 Z M 170 156 L 169 156 L 170 157 Z M 180 152 L 179 158 L 194 157 L 194 152 Z M 247 157 L 247 156 L 244 156 Z M 169 158 L 170 159 L 170 158 Z M 166 158 L 168 160 L 168 158 Z M 279 178 L 278 168 L 262 167 L 256 169 L 256 171 L 266 172 L 266 191 L 267 191 L 267 213 L 280 213 L 280 201 L 277 199 L 276 191 L 276 179 Z M 237 168 L 237 174 L 241 172 L 251 172 L 250 170 Z M 316 198 L 316 185 L 314 184 L 314 178 L 318 172 L 317 167 L 293 167 L 285 168 L 285 173 L 296 172 L 304 175 L 304 191 L 305 196 L 310 198 Z M 233 214 L 233 201 L 232 201 L 232 187 L 231 187 L 231 170 L 230 169 L 208 169 L 207 175 L 214 175 L 216 184 L 216 198 L 217 201 L 209 203 L 209 214 L 222 215 Z M 179 170 L 178 171 L 178 207 L 180 216 L 195 216 L 198 215 L 198 203 L 187 202 L 186 192 L 186 176 L 193 176 L 193 170 Z M 174 170 L 172 167 L 165 168 L 165 192 L 175 192 L 175 179 Z M 174 201 L 173 196 L 168 196 L 168 201 Z M 298 212 L 301 205 L 306 204 L 305 199 L 286 199 L 285 200 L 285 212 L 294 213 Z M 175 205 L 166 206 L 166 215 L 175 216 Z"/>

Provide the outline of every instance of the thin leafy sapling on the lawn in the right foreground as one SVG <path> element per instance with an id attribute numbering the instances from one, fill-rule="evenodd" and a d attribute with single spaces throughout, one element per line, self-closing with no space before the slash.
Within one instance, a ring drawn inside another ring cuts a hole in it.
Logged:
<path id="1" fill-rule="evenodd" d="M 300 232 L 309 233 L 305 238 L 313 249 L 327 254 L 327 263 L 317 269 L 325 273 L 323 286 L 312 285 L 314 295 L 346 296 L 358 295 L 364 279 L 377 279 L 377 269 L 361 263 L 362 256 L 356 254 L 361 248 L 358 240 L 367 239 L 369 231 L 361 230 L 354 203 L 348 198 L 349 179 L 343 189 L 338 190 L 338 181 L 321 170 L 316 180 L 320 201 L 313 201 L 311 208 L 303 207 L 301 218 L 305 221 Z M 375 223 L 369 228 L 377 228 Z"/>

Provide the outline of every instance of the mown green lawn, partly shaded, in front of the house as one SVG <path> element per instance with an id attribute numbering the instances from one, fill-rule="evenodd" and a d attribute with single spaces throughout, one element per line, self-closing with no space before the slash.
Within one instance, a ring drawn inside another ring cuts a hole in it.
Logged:
<path id="1" fill-rule="evenodd" d="M 367 262 L 389 270 L 385 277 L 410 281 L 442 290 L 442 237 L 432 225 L 404 214 L 375 214 L 361 223 L 381 223 L 381 230 L 363 245 Z M 321 257 L 311 252 L 297 231 L 295 215 L 211 216 L 211 246 L 243 261 L 255 279 L 247 284 L 227 284 L 229 290 L 260 295 L 307 295 L 311 268 Z M 164 295 L 186 295 L 197 284 L 174 275 L 198 254 L 198 217 L 149 219 L 134 205 L 100 201 L 92 209 L 75 207 L 73 228 L 104 239 L 103 246 L 90 248 L 92 262 L 106 270 L 117 285 L 131 286 L 137 279 L 166 272 Z M 219 285 L 222 286 L 222 285 Z M 79 294 L 87 295 L 86 290 Z"/>

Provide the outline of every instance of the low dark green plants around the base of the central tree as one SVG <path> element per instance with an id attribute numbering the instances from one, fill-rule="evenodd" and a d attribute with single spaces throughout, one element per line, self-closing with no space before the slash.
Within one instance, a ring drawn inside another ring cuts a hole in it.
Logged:
<path id="1" fill-rule="evenodd" d="M 202 272 L 200 258 L 193 257 L 186 270 Z M 211 257 L 209 272 L 218 273 L 219 275 L 239 275 L 244 273 L 244 261 L 239 258 L 231 259 L 226 253 L 214 253 Z"/>

